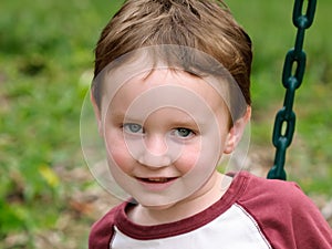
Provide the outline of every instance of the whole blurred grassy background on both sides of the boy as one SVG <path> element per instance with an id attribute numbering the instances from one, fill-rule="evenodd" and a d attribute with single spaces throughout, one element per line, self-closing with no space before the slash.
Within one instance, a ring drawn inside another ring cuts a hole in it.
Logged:
<path id="1" fill-rule="evenodd" d="M 86 248 L 101 214 L 80 194 L 95 189 L 80 147 L 79 122 L 93 49 L 122 1 L 3 0 L 0 8 L 0 248 Z M 271 163 L 271 133 L 293 46 L 292 1 L 228 0 L 253 40 L 251 149 Z M 332 197 L 332 38 L 330 0 L 307 32 L 308 65 L 297 92 L 289 179 Z M 250 154 L 249 154 L 250 156 Z M 266 165 L 270 166 L 270 165 Z"/>

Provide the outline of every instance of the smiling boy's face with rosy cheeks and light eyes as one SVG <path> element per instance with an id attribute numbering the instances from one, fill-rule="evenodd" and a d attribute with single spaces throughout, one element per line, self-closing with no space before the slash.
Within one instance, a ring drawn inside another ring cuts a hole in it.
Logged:
<path id="1" fill-rule="evenodd" d="M 236 145 L 222 97 L 197 76 L 158 69 L 104 91 L 98 123 L 112 175 L 143 206 L 195 195 Z"/>

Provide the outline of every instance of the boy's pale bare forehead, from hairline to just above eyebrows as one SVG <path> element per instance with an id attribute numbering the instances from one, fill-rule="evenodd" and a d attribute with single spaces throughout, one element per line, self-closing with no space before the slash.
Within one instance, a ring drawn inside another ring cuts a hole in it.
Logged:
<path id="1" fill-rule="evenodd" d="M 224 98 L 201 77 L 178 70 L 155 69 L 129 79 L 115 94 L 112 86 L 105 85 L 103 104 L 123 110 L 132 105 L 138 105 L 136 108 L 164 105 L 191 110 L 204 104 L 216 111 L 225 105 Z"/>

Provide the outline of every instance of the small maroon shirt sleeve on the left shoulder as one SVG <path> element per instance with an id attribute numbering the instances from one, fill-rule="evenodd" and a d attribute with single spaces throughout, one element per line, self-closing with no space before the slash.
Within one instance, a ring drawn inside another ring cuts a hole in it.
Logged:
<path id="1" fill-rule="evenodd" d="M 114 235 L 116 214 L 121 208 L 123 208 L 123 205 L 111 209 L 92 226 L 89 236 L 89 249 L 110 249 L 110 242 Z"/>

